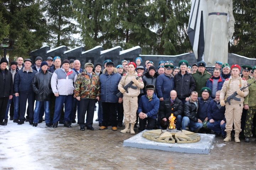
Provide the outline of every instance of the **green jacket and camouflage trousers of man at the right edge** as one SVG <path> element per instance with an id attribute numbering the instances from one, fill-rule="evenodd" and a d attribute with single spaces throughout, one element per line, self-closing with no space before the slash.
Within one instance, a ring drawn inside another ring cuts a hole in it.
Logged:
<path id="1" fill-rule="evenodd" d="M 244 104 L 249 105 L 249 109 L 247 111 L 246 120 L 245 120 L 245 129 L 244 135 L 245 137 L 251 137 L 252 135 L 252 120 L 254 119 L 254 115 L 256 113 L 256 82 L 255 79 L 247 80 L 248 84 L 253 83 L 249 86 L 249 95 L 245 97 Z"/>

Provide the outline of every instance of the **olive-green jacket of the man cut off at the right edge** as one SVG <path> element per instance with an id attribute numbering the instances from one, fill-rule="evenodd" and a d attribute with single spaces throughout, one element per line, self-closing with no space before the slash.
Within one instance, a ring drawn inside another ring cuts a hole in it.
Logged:
<path id="1" fill-rule="evenodd" d="M 254 83 L 253 83 L 254 82 Z M 249 94 L 245 97 L 244 104 L 248 104 L 249 107 L 256 107 L 256 82 L 255 79 L 247 80 L 248 84 L 253 83 L 249 86 Z"/>

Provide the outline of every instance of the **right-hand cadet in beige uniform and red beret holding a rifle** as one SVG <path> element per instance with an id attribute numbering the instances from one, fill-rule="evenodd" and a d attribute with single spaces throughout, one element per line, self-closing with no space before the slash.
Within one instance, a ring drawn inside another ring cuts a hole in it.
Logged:
<path id="1" fill-rule="evenodd" d="M 240 142 L 239 140 L 239 133 L 241 132 L 241 115 L 242 115 L 242 109 L 244 108 L 244 97 L 246 97 L 249 94 L 248 87 L 246 87 L 243 91 L 240 90 L 240 88 L 247 86 L 247 82 L 244 78 L 241 78 L 240 73 L 241 67 L 238 64 L 234 64 L 231 66 L 231 77 L 229 79 L 226 79 L 222 90 L 220 91 L 220 105 L 226 106 L 226 133 L 227 136 L 224 139 L 225 142 L 228 142 L 231 140 L 230 133 L 233 129 L 233 123 L 234 123 L 234 130 L 235 130 L 235 142 Z M 240 101 L 237 101 L 235 99 L 230 100 L 230 104 L 225 103 L 225 100 L 227 97 L 232 95 L 234 92 L 237 92 L 238 95 L 236 95 L 237 98 L 239 98 Z"/>

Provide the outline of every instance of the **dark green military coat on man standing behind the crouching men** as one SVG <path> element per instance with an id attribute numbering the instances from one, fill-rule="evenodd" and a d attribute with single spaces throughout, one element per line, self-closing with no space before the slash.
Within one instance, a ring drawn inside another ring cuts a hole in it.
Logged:
<path id="1" fill-rule="evenodd" d="M 210 73 L 208 73 L 206 70 L 204 70 L 203 75 L 201 73 L 199 73 L 198 71 L 194 74 L 192 74 L 195 83 L 196 83 L 196 89 L 195 91 L 198 92 L 198 97 L 202 96 L 202 92 L 201 89 L 203 87 L 206 87 L 206 81 L 212 77 L 212 75 Z"/>

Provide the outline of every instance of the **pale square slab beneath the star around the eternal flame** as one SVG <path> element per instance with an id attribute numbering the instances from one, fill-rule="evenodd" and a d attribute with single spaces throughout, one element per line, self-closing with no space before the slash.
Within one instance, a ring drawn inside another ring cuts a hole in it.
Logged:
<path id="1" fill-rule="evenodd" d="M 146 131 L 146 130 L 145 130 Z M 134 148 L 142 148 L 142 149 L 157 149 L 162 151 L 173 151 L 173 152 L 182 152 L 182 153 L 201 153 L 201 154 L 209 154 L 210 149 L 215 140 L 215 135 L 211 134 L 198 134 L 201 136 L 201 140 L 196 143 L 161 143 L 154 142 L 145 139 L 142 134 L 143 132 L 125 140 L 123 142 L 123 146 L 129 146 Z"/>

